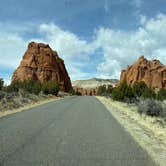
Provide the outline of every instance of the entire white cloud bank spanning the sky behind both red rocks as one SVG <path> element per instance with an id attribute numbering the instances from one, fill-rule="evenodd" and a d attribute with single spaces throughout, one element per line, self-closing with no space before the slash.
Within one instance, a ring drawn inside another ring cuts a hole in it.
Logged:
<path id="1" fill-rule="evenodd" d="M 166 64 L 166 15 L 158 14 L 151 19 L 142 15 L 139 24 L 131 31 L 100 27 L 94 31 L 91 41 L 53 23 L 31 26 L 32 31 L 37 32 L 36 38 L 25 39 L 16 28 L 13 33 L 9 29 L 0 31 L 0 76 L 9 80 L 8 74 L 11 75 L 19 65 L 27 44 L 32 40 L 50 44 L 64 59 L 72 80 L 94 76 L 119 78 L 121 69 L 140 55 Z M 10 70 L 4 71 L 3 68 Z"/>

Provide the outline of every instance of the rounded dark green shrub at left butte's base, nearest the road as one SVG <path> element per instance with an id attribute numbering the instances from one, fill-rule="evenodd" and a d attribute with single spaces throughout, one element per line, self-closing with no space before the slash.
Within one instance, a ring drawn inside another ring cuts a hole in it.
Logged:
<path id="1" fill-rule="evenodd" d="M 44 82 L 42 85 L 44 94 L 58 95 L 59 86 L 55 81 Z"/>

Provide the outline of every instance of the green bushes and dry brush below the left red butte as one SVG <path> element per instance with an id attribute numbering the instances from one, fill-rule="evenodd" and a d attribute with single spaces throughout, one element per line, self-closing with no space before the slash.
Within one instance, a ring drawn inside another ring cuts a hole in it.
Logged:
<path id="1" fill-rule="evenodd" d="M 26 104 L 57 96 L 59 86 L 54 81 L 14 81 L 5 86 L 0 79 L 0 111 L 13 110 Z"/>

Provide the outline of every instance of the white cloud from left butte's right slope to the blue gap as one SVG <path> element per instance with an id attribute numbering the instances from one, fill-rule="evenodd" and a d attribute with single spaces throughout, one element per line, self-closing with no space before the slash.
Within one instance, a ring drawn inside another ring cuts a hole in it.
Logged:
<path id="1" fill-rule="evenodd" d="M 65 60 L 72 79 L 83 79 L 89 76 L 89 73 L 83 69 L 90 63 L 90 56 L 95 50 L 95 45 L 71 32 L 60 29 L 53 23 L 41 24 L 39 31 L 44 36 L 42 41 L 49 43 Z"/>

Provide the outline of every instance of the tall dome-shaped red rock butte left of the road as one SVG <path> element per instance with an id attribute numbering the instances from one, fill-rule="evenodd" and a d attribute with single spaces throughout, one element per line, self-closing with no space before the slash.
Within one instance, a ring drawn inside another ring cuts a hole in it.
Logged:
<path id="1" fill-rule="evenodd" d="M 12 81 L 40 80 L 57 82 L 61 90 L 68 92 L 72 86 L 70 77 L 57 52 L 49 45 L 31 42 L 20 66 L 13 74 Z"/>

